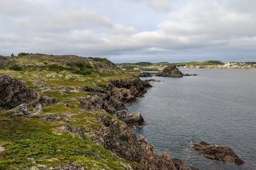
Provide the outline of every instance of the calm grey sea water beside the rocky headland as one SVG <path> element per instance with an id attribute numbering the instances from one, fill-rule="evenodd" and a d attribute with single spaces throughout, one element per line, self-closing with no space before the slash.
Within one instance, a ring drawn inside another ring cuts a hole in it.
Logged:
<path id="1" fill-rule="evenodd" d="M 128 105 L 148 125 L 135 129 L 156 153 L 199 169 L 256 169 L 256 70 L 184 69 L 198 76 L 153 77 L 144 98 Z M 144 79 L 144 78 L 143 78 Z M 225 144 L 246 162 L 242 166 L 209 160 L 191 143 Z"/>

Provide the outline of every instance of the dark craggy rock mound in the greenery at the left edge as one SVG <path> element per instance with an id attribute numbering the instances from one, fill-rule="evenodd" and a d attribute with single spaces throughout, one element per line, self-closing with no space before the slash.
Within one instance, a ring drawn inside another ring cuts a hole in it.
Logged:
<path id="1" fill-rule="evenodd" d="M 8 75 L 0 75 L 0 108 L 12 109 L 17 105 L 28 103 L 37 98 L 34 89 Z"/>

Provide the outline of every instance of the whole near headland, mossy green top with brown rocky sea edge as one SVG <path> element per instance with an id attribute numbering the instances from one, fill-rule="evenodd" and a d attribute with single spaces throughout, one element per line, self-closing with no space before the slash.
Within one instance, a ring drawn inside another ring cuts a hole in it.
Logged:
<path id="1" fill-rule="evenodd" d="M 195 169 L 158 156 L 124 104 L 151 85 L 107 59 L 19 54 L 0 68 L 0 169 Z"/>

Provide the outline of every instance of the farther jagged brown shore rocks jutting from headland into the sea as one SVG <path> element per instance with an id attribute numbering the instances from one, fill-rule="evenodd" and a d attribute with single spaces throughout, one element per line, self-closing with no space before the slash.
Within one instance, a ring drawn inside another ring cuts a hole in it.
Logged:
<path id="1" fill-rule="evenodd" d="M 148 81 L 134 79 L 114 79 L 105 89 L 93 89 L 85 86 L 83 90 L 96 93 L 94 96 L 80 97 L 80 104 L 90 111 L 103 111 L 117 116 L 129 126 L 144 125 L 144 119 L 140 113 L 132 115 L 126 112 L 124 104 L 132 103 L 139 97 L 143 97 L 146 88 L 151 87 Z"/>

